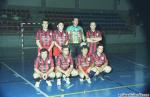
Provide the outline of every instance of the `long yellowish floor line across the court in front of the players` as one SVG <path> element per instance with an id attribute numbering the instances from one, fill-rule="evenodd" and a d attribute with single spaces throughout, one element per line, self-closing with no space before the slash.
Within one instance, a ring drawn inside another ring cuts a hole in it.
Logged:
<path id="1" fill-rule="evenodd" d="M 121 88 L 127 88 L 127 87 L 138 87 L 138 86 L 144 86 L 144 85 L 145 84 L 129 84 L 129 85 L 118 86 L 118 87 L 111 87 L 111 88 L 103 88 L 103 89 L 95 89 L 95 90 L 89 90 L 89 91 L 64 93 L 64 94 L 52 95 L 52 96 L 49 96 L 49 97 L 58 97 L 58 96 L 69 96 L 69 95 L 85 94 L 85 93 L 91 93 L 91 92 L 100 92 L 100 91 L 107 91 L 107 90 L 113 90 L 113 89 L 121 89 Z"/>

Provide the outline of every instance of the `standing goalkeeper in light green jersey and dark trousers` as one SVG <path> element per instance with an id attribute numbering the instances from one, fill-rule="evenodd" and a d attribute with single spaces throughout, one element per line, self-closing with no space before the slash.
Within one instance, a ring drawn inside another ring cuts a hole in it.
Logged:
<path id="1" fill-rule="evenodd" d="M 73 25 L 67 27 L 67 32 L 69 35 L 69 46 L 71 50 L 71 54 L 73 58 L 76 58 L 78 54 L 80 53 L 80 43 L 82 41 L 85 41 L 84 32 L 82 27 L 78 26 L 79 19 L 74 18 L 73 19 Z"/>

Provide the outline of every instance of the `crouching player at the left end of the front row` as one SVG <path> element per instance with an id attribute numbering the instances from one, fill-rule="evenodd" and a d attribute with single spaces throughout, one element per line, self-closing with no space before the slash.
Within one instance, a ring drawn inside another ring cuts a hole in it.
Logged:
<path id="1" fill-rule="evenodd" d="M 35 87 L 39 87 L 41 79 L 46 80 L 48 86 L 52 86 L 51 79 L 55 77 L 54 63 L 51 58 L 49 58 L 49 52 L 47 49 L 43 48 L 40 50 L 40 56 L 37 57 L 34 64 L 34 74 Z"/>

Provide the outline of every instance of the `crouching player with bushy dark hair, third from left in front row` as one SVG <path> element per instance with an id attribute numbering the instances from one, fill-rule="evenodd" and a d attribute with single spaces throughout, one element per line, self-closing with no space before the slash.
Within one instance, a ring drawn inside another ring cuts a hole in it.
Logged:
<path id="1" fill-rule="evenodd" d="M 88 55 L 88 46 L 81 46 L 81 55 L 78 56 L 77 59 L 77 68 L 79 71 L 80 81 L 82 82 L 84 79 L 87 80 L 88 83 L 91 83 L 90 79 L 90 71 L 93 66 L 92 57 Z"/>

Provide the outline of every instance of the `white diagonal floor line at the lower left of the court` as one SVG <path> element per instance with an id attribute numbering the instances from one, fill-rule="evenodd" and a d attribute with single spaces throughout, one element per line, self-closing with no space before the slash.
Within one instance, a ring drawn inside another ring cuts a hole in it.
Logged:
<path id="1" fill-rule="evenodd" d="M 48 94 L 46 94 L 45 92 L 43 92 L 40 88 L 36 88 L 30 81 L 28 81 L 26 78 L 24 78 L 23 76 L 21 76 L 19 73 L 17 73 L 14 69 L 12 69 L 11 67 L 9 67 L 5 62 L 1 62 L 2 65 L 4 65 L 6 68 L 8 68 L 10 71 L 12 71 L 13 73 L 17 74 L 18 77 L 20 77 L 21 79 L 23 79 L 26 83 L 28 83 L 31 87 L 33 87 L 35 90 L 37 90 L 38 92 L 40 92 L 44 97 L 49 97 Z"/>

